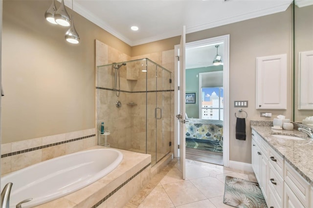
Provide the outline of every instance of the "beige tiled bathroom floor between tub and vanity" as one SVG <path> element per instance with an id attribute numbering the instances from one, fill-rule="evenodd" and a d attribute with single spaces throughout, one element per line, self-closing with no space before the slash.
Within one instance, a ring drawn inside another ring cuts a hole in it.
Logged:
<path id="1" fill-rule="evenodd" d="M 223 204 L 225 176 L 256 181 L 252 172 L 186 160 L 186 180 L 175 158 L 124 208 L 231 208 Z"/>

